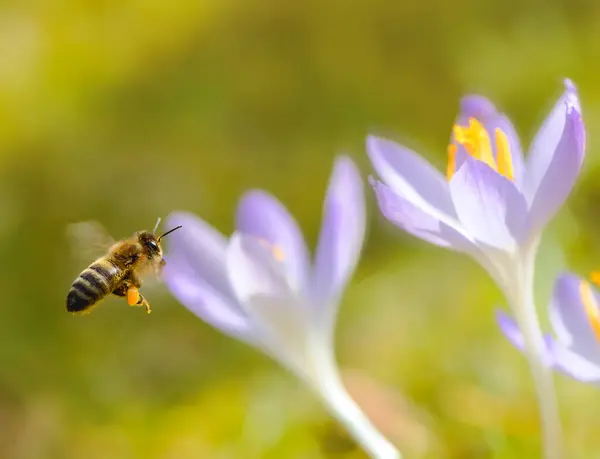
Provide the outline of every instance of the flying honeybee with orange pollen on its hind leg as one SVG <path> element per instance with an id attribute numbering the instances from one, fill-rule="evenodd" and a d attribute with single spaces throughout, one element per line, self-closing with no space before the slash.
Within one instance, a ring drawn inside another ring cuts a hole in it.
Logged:
<path id="1" fill-rule="evenodd" d="M 138 231 L 131 238 L 118 242 L 103 234 L 102 227 L 97 223 L 82 222 L 72 225 L 71 235 L 80 243 L 86 238 L 94 238 L 96 242 L 102 240 L 100 245 L 105 248 L 104 255 L 84 269 L 71 285 L 67 295 L 67 311 L 81 313 L 90 310 L 112 293 L 125 297 L 130 306 L 145 307 L 146 312 L 150 314 L 150 303 L 139 290 L 142 286 L 141 278 L 152 271 L 160 276 L 166 264 L 161 240 L 167 234 L 181 228 L 177 226 L 157 236 L 159 224 L 160 218 L 153 231 Z M 89 249 L 91 247 L 86 248 Z"/>

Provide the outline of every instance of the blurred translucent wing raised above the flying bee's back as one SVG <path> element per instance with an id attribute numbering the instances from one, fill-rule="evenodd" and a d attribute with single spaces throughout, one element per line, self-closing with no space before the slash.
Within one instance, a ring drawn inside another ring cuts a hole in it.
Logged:
<path id="1" fill-rule="evenodd" d="M 91 220 L 67 225 L 67 238 L 73 258 L 80 264 L 89 264 L 106 255 L 115 243 L 100 223 Z"/>

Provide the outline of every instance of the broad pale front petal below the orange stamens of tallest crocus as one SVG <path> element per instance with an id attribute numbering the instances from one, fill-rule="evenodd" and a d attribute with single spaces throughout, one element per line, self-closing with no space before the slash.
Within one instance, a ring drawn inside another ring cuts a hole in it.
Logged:
<path id="1" fill-rule="evenodd" d="M 450 193 L 471 237 L 502 250 L 512 250 L 521 241 L 525 199 L 513 182 L 487 164 L 467 158 L 450 180 Z"/>

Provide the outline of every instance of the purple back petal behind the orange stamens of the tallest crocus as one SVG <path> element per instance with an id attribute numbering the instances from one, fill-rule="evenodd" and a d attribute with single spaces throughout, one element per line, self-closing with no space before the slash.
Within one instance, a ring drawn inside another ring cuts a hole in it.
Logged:
<path id="1" fill-rule="evenodd" d="M 519 136 L 517 135 L 513 124 L 503 113 L 499 113 L 496 110 L 496 107 L 489 99 L 479 95 L 469 95 L 461 99 L 458 123 L 467 125 L 469 118 L 476 118 L 479 120 L 488 132 L 495 156 L 497 155 L 495 142 L 496 129 L 500 129 L 504 132 L 506 139 L 508 140 L 512 159 L 514 181 L 518 187 L 520 187 L 525 176 L 525 160 L 523 158 L 523 149 L 521 148 Z"/>

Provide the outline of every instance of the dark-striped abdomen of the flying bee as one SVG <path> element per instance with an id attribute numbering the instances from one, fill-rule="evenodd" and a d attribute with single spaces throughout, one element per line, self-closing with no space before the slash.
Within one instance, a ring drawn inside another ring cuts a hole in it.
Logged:
<path id="1" fill-rule="evenodd" d="M 109 259 L 101 258 L 84 269 L 67 295 L 67 311 L 83 311 L 100 301 L 116 286 L 121 270 Z"/>

